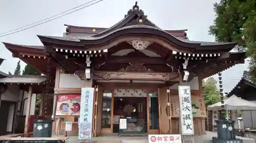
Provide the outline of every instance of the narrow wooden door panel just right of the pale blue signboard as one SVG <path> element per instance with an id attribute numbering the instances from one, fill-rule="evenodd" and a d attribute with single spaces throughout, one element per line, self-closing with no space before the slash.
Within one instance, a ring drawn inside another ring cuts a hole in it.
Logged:
<path id="1" fill-rule="evenodd" d="M 102 118 L 102 97 L 103 88 L 97 85 L 95 88 L 94 97 L 94 121 L 93 121 L 93 137 L 99 136 L 101 134 L 101 118 Z"/>

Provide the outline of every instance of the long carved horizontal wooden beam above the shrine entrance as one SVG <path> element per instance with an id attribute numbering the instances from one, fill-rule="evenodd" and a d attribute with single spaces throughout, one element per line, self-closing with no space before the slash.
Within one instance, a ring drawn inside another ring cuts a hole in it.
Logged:
<path id="1" fill-rule="evenodd" d="M 111 72 L 111 71 L 93 71 L 94 80 L 161 80 L 161 81 L 179 81 L 179 74 L 157 73 L 157 72 Z"/>

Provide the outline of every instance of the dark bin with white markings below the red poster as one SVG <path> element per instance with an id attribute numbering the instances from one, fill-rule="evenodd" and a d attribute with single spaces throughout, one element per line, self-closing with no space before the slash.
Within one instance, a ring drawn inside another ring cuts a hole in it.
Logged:
<path id="1" fill-rule="evenodd" d="M 52 120 L 33 120 L 33 137 L 52 137 Z"/>

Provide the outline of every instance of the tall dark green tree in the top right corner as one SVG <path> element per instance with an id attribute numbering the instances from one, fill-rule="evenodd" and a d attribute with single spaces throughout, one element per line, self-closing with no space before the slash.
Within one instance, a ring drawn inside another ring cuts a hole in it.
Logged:
<path id="1" fill-rule="evenodd" d="M 214 4 L 216 19 L 209 34 L 218 42 L 238 42 L 237 49 L 250 57 L 250 74 L 256 81 L 256 5 L 255 0 L 221 0 Z"/>

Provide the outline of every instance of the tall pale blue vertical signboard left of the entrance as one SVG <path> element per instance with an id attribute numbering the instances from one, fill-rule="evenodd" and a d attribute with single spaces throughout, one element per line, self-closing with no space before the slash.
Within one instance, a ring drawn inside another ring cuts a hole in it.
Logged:
<path id="1" fill-rule="evenodd" d="M 78 135 L 80 140 L 92 139 L 93 95 L 94 88 L 82 88 Z"/>

